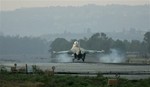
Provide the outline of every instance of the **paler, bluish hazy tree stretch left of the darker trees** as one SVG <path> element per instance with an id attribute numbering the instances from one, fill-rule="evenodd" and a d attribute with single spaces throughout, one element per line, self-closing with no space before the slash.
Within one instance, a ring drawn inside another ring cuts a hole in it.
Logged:
<path id="1" fill-rule="evenodd" d="M 38 37 L 0 36 L 0 54 L 44 54 L 48 43 Z"/>

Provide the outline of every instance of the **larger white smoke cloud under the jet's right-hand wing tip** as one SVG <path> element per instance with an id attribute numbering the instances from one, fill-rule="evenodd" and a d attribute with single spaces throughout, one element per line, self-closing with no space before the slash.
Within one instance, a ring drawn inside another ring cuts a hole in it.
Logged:
<path id="1" fill-rule="evenodd" d="M 125 57 L 116 49 L 111 49 L 111 53 L 101 56 L 99 61 L 103 63 L 122 63 L 125 62 Z"/>

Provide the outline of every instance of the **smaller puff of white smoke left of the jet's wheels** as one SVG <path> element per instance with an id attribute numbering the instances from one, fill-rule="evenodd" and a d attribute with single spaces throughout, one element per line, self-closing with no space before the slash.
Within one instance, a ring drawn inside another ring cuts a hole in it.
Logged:
<path id="1" fill-rule="evenodd" d="M 72 58 L 68 54 L 59 54 L 56 58 L 57 62 L 72 62 Z"/>

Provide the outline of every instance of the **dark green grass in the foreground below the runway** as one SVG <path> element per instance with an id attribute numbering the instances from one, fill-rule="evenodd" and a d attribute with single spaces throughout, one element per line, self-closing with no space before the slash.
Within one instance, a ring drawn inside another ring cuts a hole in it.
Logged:
<path id="1" fill-rule="evenodd" d="M 107 81 L 108 78 L 103 76 L 0 74 L 0 87 L 109 87 Z M 143 80 L 119 79 L 117 87 L 150 87 L 150 78 Z"/>

